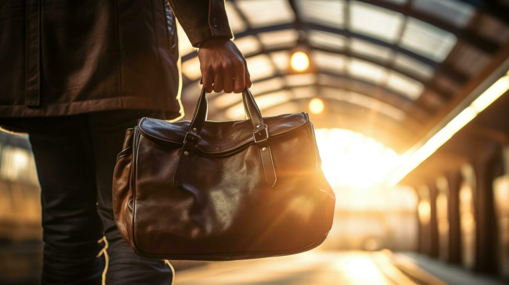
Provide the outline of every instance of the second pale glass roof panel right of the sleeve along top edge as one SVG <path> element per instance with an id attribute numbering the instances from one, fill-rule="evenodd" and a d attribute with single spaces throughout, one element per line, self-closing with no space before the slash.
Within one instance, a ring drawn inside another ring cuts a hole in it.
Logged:
<path id="1" fill-rule="evenodd" d="M 300 0 L 297 9 L 304 21 L 343 29 L 344 0 Z"/>

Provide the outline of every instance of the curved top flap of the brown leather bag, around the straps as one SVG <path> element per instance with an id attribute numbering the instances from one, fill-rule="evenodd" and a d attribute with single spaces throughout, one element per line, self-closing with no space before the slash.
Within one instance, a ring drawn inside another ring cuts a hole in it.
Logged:
<path id="1" fill-rule="evenodd" d="M 264 117 L 264 123 L 271 137 L 287 134 L 307 125 L 307 113 L 284 114 Z M 189 130 L 190 121 L 167 122 L 158 119 L 143 118 L 138 121 L 138 130 L 149 139 L 181 147 L 184 136 Z M 205 121 L 198 152 L 210 155 L 222 155 L 236 151 L 254 143 L 253 128 L 249 120 L 242 121 Z"/>

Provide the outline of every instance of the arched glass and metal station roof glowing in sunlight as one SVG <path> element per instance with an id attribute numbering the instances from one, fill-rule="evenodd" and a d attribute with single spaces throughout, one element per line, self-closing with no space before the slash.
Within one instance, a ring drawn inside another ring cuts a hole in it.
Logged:
<path id="1" fill-rule="evenodd" d="M 321 98 L 325 110 L 314 122 L 374 131 L 400 151 L 507 43 L 509 10 L 482 3 L 234 0 L 226 8 L 264 116 L 308 111 L 308 101 Z M 201 88 L 200 64 L 178 32 L 188 117 Z M 309 56 L 307 70 L 290 67 L 295 51 Z M 210 94 L 209 119 L 243 118 L 240 100 Z"/>

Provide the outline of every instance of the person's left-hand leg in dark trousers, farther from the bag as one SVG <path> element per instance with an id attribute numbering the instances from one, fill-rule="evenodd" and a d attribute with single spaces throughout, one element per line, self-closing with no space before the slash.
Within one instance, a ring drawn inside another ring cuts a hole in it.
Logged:
<path id="1" fill-rule="evenodd" d="M 95 162 L 83 116 L 26 120 L 41 184 L 43 284 L 101 284 Z"/>

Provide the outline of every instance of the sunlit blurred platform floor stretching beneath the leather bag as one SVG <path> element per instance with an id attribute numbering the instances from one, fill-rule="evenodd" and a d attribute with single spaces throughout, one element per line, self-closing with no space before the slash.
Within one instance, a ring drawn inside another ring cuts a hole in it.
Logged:
<path id="1" fill-rule="evenodd" d="M 177 270 L 176 285 L 504 284 L 416 253 L 313 250 Z"/>

